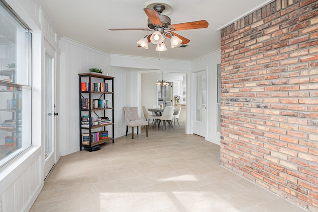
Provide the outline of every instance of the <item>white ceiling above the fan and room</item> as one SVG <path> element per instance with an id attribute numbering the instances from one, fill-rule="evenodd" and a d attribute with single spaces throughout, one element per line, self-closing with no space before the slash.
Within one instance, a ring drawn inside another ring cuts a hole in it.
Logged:
<path id="1" fill-rule="evenodd" d="M 158 0 L 158 2 L 166 0 Z M 194 60 L 220 49 L 220 29 L 240 16 L 270 0 L 170 0 L 174 11 L 168 16 L 171 24 L 207 20 L 204 29 L 180 30 L 177 34 L 190 42 L 186 48 L 160 52 L 160 58 Z M 158 58 L 159 52 L 138 48 L 140 38 L 152 31 L 110 31 L 109 28 L 148 28 L 143 8 L 148 0 L 42 0 L 44 10 L 57 33 L 102 51 L 141 57 Z M 169 42 L 169 39 L 168 39 Z"/>

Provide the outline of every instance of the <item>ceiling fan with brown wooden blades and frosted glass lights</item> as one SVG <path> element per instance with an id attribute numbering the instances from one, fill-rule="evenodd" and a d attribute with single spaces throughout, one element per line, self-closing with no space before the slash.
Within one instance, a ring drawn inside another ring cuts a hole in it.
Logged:
<path id="1" fill-rule="evenodd" d="M 148 27 L 149 28 L 117 28 L 109 30 L 143 30 L 143 31 L 154 31 L 149 33 L 145 37 L 141 38 L 137 44 L 138 47 L 143 47 L 148 49 L 148 44 L 151 42 L 157 45 L 156 50 L 161 52 L 165 51 L 165 39 L 170 38 L 171 48 L 178 46 L 179 44 L 187 44 L 190 42 L 189 39 L 182 37 L 181 35 L 176 34 L 174 31 L 178 30 L 188 30 L 188 29 L 201 29 L 207 28 L 209 23 L 206 20 L 192 21 L 179 24 L 171 24 L 171 19 L 163 15 L 162 12 L 166 8 L 167 4 L 164 3 L 155 3 L 153 8 L 144 8 L 146 15 L 148 16 Z M 173 6 L 168 5 L 172 10 Z"/>

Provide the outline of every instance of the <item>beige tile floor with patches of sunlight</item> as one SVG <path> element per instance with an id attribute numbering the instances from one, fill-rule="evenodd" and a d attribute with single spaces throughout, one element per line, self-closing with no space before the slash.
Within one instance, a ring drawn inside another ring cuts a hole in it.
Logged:
<path id="1" fill-rule="evenodd" d="M 30 211 L 305 211 L 221 167 L 220 147 L 180 124 L 61 157 Z"/>

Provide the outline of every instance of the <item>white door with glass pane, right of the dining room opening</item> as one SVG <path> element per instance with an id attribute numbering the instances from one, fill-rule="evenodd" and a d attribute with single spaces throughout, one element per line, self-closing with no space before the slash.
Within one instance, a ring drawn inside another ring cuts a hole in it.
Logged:
<path id="1" fill-rule="evenodd" d="M 193 133 L 206 137 L 206 74 L 205 71 L 194 73 L 194 122 Z"/>

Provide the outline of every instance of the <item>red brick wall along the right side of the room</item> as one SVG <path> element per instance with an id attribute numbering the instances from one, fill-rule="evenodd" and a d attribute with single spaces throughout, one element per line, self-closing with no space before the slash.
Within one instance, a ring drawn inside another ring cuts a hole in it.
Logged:
<path id="1" fill-rule="evenodd" d="M 318 211 L 318 0 L 275 0 L 221 30 L 221 164 Z"/>

